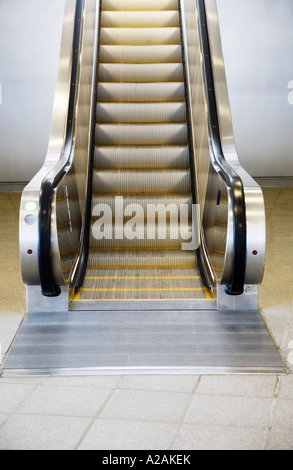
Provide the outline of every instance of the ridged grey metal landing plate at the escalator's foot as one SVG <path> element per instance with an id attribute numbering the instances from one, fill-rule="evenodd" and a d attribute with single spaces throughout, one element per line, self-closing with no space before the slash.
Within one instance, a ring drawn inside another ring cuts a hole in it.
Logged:
<path id="1" fill-rule="evenodd" d="M 259 312 L 70 311 L 25 317 L 5 375 L 285 372 Z"/>

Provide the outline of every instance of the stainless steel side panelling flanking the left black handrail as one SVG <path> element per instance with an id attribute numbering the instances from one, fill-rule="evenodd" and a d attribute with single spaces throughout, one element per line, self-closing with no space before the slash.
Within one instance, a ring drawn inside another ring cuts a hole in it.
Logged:
<path id="1" fill-rule="evenodd" d="M 94 93 L 93 76 L 96 63 L 96 34 L 99 1 L 84 0 L 83 41 L 80 56 L 79 88 L 76 105 L 77 121 L 67 176 L 53 195 L 52 246 L 55 282 L 69 284 L 78 257 L 81 229 L 84 223 L 87 192 L 90 122 Z M 51 136 L 45 163 L 23 191 L 20 208 L 20 258 L 23 282 L 40 285 L 38 266 L 39 198 L 44 178 L 58 173 L 62 159 L 71 88 L 72 48 L 76 0 L 66 0 L 60 62 L 53 107 Z"/>

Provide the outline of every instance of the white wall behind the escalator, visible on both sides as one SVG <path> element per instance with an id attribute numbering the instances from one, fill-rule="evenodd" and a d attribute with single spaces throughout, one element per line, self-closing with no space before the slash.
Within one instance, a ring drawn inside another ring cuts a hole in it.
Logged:
<path id="1" fill-rule="evenodd" d="M 255 177 L 293 176 L 293 0 L 217 1 L 240 161 Z M 0 0 L 0 182 L 29 181 L 44 162 L 63 11 Z"/>

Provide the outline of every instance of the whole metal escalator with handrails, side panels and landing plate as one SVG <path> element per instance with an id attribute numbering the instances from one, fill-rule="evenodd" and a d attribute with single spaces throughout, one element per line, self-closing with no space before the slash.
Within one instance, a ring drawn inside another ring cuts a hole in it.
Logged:
<path id="1" fill-rule="evenodd" d="M 216 1 L 66 0 L 52 121 L 21 202 L 28 316 L 4 369 L 279 371 Z"/>

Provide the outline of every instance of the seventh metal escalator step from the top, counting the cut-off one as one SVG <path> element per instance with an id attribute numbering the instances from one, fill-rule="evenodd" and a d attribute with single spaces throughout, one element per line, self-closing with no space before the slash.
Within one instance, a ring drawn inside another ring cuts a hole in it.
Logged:
<path id="1" fill-rule="evenodd" d="M 186 121 L 185 103 L 97 103 L 97 123 L 171 123 Z"/>

